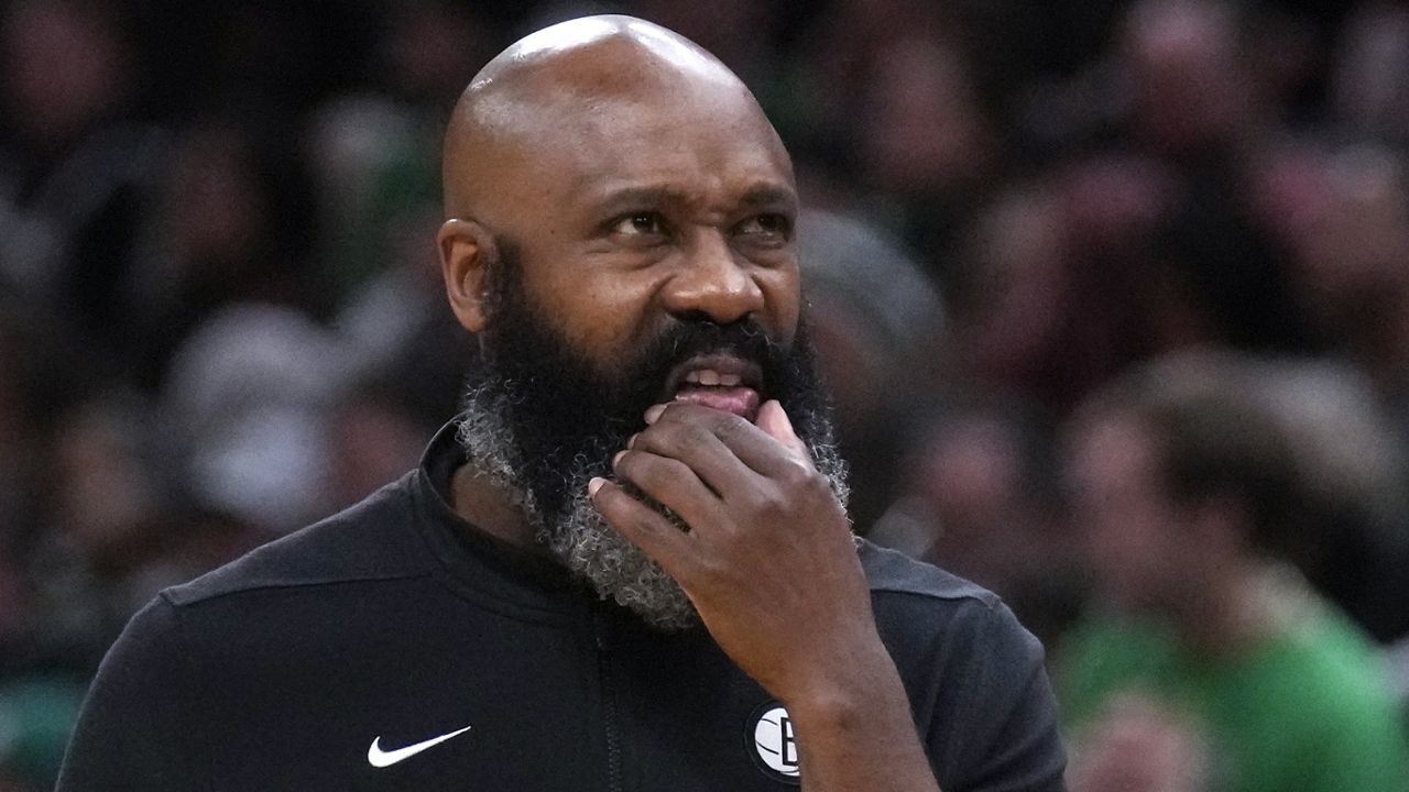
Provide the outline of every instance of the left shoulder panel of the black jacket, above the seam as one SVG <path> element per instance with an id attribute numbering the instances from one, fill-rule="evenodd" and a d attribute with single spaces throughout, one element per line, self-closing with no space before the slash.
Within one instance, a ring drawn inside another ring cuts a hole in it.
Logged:
<path id="1" fill-rule="evenodd" d="M 344 512 L 262 545 L 189 583 L 162 592 L 186 607 L 265 589 L 385 581 L 427 574 L 411 479 L 390 483 Z"/>

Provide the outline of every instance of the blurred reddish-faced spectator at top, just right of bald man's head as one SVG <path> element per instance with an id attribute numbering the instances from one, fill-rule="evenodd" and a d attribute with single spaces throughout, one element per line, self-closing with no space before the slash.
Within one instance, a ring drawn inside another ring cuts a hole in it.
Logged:
<path id="1" fill-rule="evenodd" d="M 1005 163 L 961 4 L 847 0 L 819 16 L 795 97 L 782 113 L 809 161 L 859 185 L 847 204 L 923 251 L 947 286 L 950 247 Z M 805 118 L 789 120 L 802 113 Z M 848 185 L 848 186 L 850 186 Z M 813 190 L 814 193 L 817 190 Z"/>

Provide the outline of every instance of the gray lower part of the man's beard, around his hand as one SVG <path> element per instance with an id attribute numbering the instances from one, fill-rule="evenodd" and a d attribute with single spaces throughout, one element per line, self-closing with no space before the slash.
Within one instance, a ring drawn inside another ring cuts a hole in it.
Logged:
<path id="1" fill-rule="evenodd" d="M 475 386 L 465 399 L 457 438 L 465 448 L 469 465 L 495 486 L 510 493 L 534 528 L 535 540 L 547 547 L 569 571 L 586 579 L 602 599 L 612 599 L 630 609 L 651 627 L 675 633 L 700 623 L 689 596 L 665 569 L 641 548 L 623 537 L 592 505 L 588 482 L 606 475 L 606 465 L 614 450 L 604 450 L 600 458 L 578 454 L 572 468 L 564 472 L 566 503 L 555 520 L 545 514 L 541 497 L 523 481 L 526 469 L 519 444 L 504 416 L 509 416 L 507 396 L 496 388 Z M 831 421 L 824 416 L 803 416 L 799 434 L 812 452 L 817 471 L 831 485 L 831 492 L 845 510 L 850 488 L 847 465 L 834 441 Z M 685 526 L 675 514 L 651 503 L 665 517 Z"/>

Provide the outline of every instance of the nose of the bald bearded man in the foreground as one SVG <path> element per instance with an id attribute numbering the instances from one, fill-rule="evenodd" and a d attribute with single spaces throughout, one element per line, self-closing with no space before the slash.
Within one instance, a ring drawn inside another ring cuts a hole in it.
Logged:
<path id="1" fill-rule="evenodd" d="M 764 292 L 723 234 L 700 234 L 682 251 L 664 287 L 665 309 L 675 316 L 706 316 L 730 324 L 764 307 Z"/>

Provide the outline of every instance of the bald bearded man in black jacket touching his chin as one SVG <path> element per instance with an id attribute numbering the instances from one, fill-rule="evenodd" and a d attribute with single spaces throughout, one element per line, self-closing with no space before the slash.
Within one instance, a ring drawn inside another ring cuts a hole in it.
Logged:
<path id="1" fill-rule="evenodd" d="M 1037 643 L 848 531 L 792 171 L 738 79 L 564 23 L 475 78 L 444 169 L 465 413 L 139 614 L 59 788 L 1060 788 Z"/>

